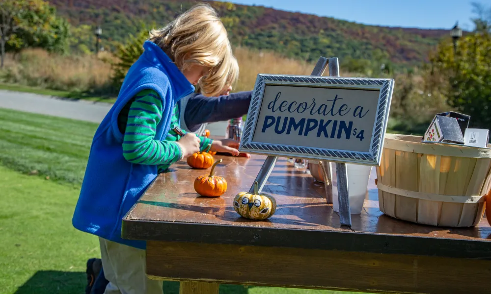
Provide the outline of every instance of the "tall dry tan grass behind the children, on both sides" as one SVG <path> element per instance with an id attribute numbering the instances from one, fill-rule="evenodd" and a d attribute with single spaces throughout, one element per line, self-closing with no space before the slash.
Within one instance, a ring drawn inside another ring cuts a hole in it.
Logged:
<path id="1" fill-rule="evenodd" d="M 234 91 L 254 87 L 258 73 L 310 74 L 314 64 L 284 58 L 274 52 L 236 48 L 240 77 Z M 57 55 L 42 49 L 26 49 L 17 56 L 8 55 L 0 78 L 3 82 L 36 86 L 53 90 L 91 91 L 100 93 L 111 89 L 112 68 L 115 61 L 109 52 L 95 55 Z M 106 93 L 108 94 L 108 93 Z"/>

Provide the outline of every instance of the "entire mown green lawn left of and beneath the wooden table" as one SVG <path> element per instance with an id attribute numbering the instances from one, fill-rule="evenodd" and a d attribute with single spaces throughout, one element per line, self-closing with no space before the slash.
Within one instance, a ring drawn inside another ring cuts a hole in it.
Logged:
<path id="1" fill-rule="evenodd" d="M 71 218 L 96 128 L 0 108 L 0 294 L 83 293 L 86 260 L 100 252 Z M 164 293 L 178 294 L 178 283 L 165 282 Z M 220 294 L 287 293 L 348 294 L 220 287 Z"/>

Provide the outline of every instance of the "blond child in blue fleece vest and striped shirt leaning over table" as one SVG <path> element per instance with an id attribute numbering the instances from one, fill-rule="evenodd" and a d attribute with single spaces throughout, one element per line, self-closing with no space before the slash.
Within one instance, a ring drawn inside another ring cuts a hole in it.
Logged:
<path id="1" fill-rule="evenodd" d="M 121 220 L 159 171 L 211 143 L 211 150 L 238 155 L 226 141 L 192 133 L 163 141 L 174 107 L 200 82 L 204 94 L 227 84 L 232 49 L 225 27 L 209 5 L 198 4 L 151 32 L 144 53 L 129 69 L 118 98 L 99 125 L 85 171 L 73 225 L 99 237 L 105 293 L 162 293 L 145 275 L 144 241 L 125 240 Z"/>

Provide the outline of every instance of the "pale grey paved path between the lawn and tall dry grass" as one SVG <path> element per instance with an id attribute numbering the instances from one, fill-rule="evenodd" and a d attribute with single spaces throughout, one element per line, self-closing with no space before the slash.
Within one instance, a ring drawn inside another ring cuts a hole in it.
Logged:
<path id="1" fill-rule="evenodd" d="M 0 107 L 100 123 L 111 104 L 0 90 Z M 213 135 L 224 135 L 225 127 L 226 122 L 208 124 L 208 129 Z"/>

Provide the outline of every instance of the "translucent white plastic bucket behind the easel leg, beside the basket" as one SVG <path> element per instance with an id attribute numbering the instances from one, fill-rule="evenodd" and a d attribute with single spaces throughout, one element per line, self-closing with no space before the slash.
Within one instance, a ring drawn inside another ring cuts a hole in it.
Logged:
<path id="1" fill-rule="evenodd" d="M 330 163 L 332 168 L 332 209 L 339 212 L 339 202 L 337 194 L 337 175 L 336 164 Z M 365 197 L 367 196 L 368 181 L 370 179 L 371 166 L 358 164 L 346 164 L 348 172 L 348 195 L 350 197 L 351 214 L 361 214 Z"/>

